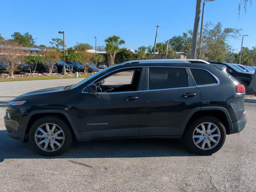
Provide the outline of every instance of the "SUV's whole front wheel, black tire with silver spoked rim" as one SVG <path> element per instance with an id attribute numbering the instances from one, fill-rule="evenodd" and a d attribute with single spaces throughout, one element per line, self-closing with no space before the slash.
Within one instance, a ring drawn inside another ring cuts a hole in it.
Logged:
<path id="1" fill-rule="evenodd" d="M 51 133 L 47 132 L 46 124 L 48 124 L 51 130 L 53 128 L 53 125 L 55 124 L 55 129 L 52 132 L 53 136 L 51 134 L 46 135 L 47 133 Z M 41 128 L 41 130 L 43 130 L 45 134 L 38 130 L 39 128 Z M 61 130 L 62 132 L 60 132 Z M 57 134 L 57 132 L 60 133 Z M 48 142 L 48 146 L 45 150 L 43 148 L 46 145 L 46 142 L 42 142 L 42 144 L 40 144 L 42 140 Z M 43 156 L 57 156 L 66 152 L 70 147 L 72 143 L 72 133 L 66 122 L 64 122 L 60 118 L 46 116 L 36 120 L 32 124 L 29 132 L 29 142 L 37 154 Z M 60 146 L 58 146 L 57 144 Z"/>

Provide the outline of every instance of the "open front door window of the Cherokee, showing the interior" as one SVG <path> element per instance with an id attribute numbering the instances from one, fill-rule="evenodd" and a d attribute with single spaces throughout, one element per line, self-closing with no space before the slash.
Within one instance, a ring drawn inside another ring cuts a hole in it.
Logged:
<path id="1" fill-rule="evenodd" d="M 141 69 L 121 70 L 96 82 L 98 92 L 136 91 L 140 80 Z"/>

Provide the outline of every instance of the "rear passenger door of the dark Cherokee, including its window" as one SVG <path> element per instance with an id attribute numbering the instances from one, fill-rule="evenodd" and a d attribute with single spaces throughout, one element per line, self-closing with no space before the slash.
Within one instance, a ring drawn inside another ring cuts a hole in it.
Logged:
<path id="1" fill-rule="evenodd" d="M 184 119 L 200 105 L 188 68 L 146 68 L 139 136 L 182 135 Z"/>

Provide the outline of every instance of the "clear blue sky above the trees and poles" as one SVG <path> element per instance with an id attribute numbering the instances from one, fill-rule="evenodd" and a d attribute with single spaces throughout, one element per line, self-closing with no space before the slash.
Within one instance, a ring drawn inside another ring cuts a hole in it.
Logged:
<path id="1" fill-rule="evenodd" d="M 0 34 L 10 38 L 15 31 L 29 32 L 36 44 L 49 45 L 52 38 L 62 38 L 58 31 L 65 31 L 68 47 L 76 42 L 104 45 L 104 39 L 116 34 L 126 41 L 125 47 L 137 49 L 141 45 L 154 44 L 158 30 L 158 42 L 192 29 L 196 0 L 12 0 L 1 2 Z M 206 2 L 204 21 L 224 27 L 242 28 L 244 46 L 256 46 L 256 1 L 241 12 L 238 20 L 238 0 Z M 241 40 L 230 40 L 235 52 Z"/>

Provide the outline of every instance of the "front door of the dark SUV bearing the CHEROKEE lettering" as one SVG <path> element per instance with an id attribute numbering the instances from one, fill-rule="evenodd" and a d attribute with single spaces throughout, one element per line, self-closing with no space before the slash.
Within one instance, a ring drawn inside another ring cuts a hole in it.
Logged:
<path id="1" fill-rule="evenodd" d="M 138 136 L 145 69 L 112 72 L 94 82 L 97 93 L 81 93 L 77 106 L 82 138 Z"/>

